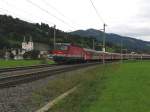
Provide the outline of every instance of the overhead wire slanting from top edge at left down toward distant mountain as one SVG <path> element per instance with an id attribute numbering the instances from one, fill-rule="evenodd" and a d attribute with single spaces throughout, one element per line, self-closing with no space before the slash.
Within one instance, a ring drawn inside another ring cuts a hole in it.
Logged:
<path id="1" fill-rule="evenodd" d="M 66 24 L 66 25 L 69 26 L 70 28 L 75 29 L 74 27 L 72 27 L 72 26 L 70 26 L 68 23 L 66 23 L 64 20 L 58 18 L 58 17 L 55 16 L 54 14 L 50 13 L 48 10 L 42 8 L 40 5 L 38 5 L 38 4 L 34 3 L 34 2 L 32 2 L 31 0 L 26 0 L 26 1 L 27 1 L 28 3 L 34 5 L 35 7 L 39 8 L 39 9 L 42 10 L 43 12 L 47 13 L 48 15 L 50 15 L 50 16 L 56 18 L 57 20 L 61 21 L 61 22 L 64 23 L 64 24 Z"/>

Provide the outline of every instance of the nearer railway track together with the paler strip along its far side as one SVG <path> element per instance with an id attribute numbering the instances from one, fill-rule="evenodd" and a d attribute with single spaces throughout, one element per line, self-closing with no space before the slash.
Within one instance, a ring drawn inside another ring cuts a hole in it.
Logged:
<path id="1" fill-rule="evenodd" d="M 7 74 L 0 74 L 0 88 L 13 87 L 22 83 L 31 82 L 48 76 L 56 75 L 63 72 L 76 70 L 83 67 L 93 66 L 101 63 L 86 63 L 86 64 L 75 64 L 75 65 L 60 65 L 43 67 L 35 70 L 15 71 L 8 72 Z"/>

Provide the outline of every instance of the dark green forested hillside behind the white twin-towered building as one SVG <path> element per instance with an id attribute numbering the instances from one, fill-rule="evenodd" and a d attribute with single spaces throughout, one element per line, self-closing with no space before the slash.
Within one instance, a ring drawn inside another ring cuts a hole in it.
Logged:
<path id="1" fill-rule="evenodd" d="M 41 42 L 53 46 L 53 27 L 45 23 L 28 23 L 11 16 L 0 15 L 0 49 L 21 47 L 23 37 L 32 36 L 34 42 Z M 83 47 L 91 48 L 92 39 L 74 36 L 56 30 L 57 42 L 69 42 Z"/>

